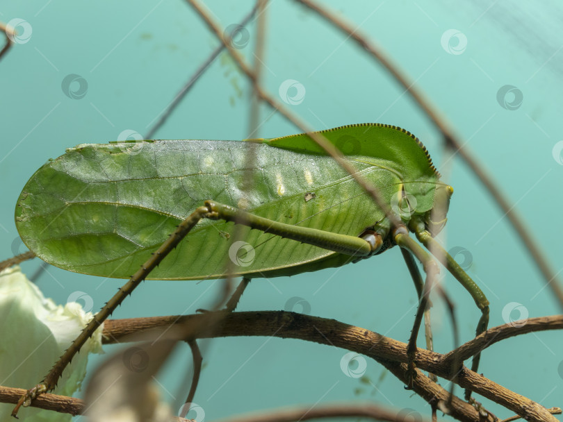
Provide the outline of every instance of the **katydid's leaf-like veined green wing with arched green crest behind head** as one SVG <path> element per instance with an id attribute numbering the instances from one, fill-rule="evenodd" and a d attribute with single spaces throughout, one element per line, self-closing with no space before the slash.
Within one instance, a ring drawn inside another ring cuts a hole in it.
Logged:
<path id="1" fill-rule="evenodd" d="M 438 175 L 410 134 L 355 125 L 323 135 L 386 201 L 407 182 L 416 185 L 421 212 L 432 207 Z M 282 223 L 354 236 L 384 217 L 350 175 L 304 135 L 255 144 L 254 187 L 243 192 L 247 145 L 197 140 L 79 145 L 28 181 L 17 203 L 17 229 L 50 264 L 128 278 L 207 199 Z M 236 253 L 233 229 L 233 223 L 201 221 L 151 278 L 218 278 L 229 256 L 238 264 L 236 273 L 252 276 L 291 275 L 350 260 L 250 228 L 242 240 L 253 246 L 254 257 L 245 259 Z"/>

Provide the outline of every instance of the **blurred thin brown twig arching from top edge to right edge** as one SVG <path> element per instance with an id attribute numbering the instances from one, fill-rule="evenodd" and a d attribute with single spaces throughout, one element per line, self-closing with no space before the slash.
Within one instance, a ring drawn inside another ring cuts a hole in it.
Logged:
<path id="1" fill-rule="evenodd" d="M 339 16 L 336 16 L 334 13 L 329 12 L 327 8 L 320 6 L 320 4 L 315 3 L 311 0 L 296 0 L 299 3 L 302 3 L 304 6 L 307 6 L 311 10 L 314 10 L 318 13 L 321 17 L 326 19 L 330 24 L 334 25 L 336 28 L 340 29 L 347 37 L 350 37 L 352 40 L 357 42 L 360 47 L 365 49 L 370 56 L 372 56 L 378 63 L 383 65 L 395 78 L 395 81 L 400 83 L 402 87 L 405 88 L 405 91 L 416 101 L 418 106 L 425 112 L 425 114 L 430 118 L 432 123 L 438 128 L 438 130 L 442 133 L 443 139 L 446 144 L 452 149 L 455 149 L 459 155 L 464 159 L 466 164 L 471 168 L 475 176 L 481 181 L 484 187 L 487 188 L 489 194 L 491 194 L 493 201 L 496 201 L 500 209 L 504 212 L 505 216 L 508 217 L 510 223 L 512 224 L 512 228 L 516 230 L 516 233 L 519 234 L 519 237 L 525 246 L 532 255 L 532 258 L 537 265 L 539 271 L 541 271 L 544 279 L 546 280 L 546 284 L 551 288 L 554 296 L 560 303 L 560 306 L 563 308 L 563 289 L 560 285 L 560 281 L 557 280 L 556 274 L 551 269 L 550 265 L 548 264 L 547 260 L 544 258 L 546 255 L 542 253 L 541 248 L 535 242 L 535 239 L 530 235 L 528 228 L 526 228 L 522 218 L 514 209 L 514 206 L 508 201 L 507 197 L 503 192 L 498 189 L 496 183 L 493 182 L 491 176 L 487 174 L 487 171 L 483 169 L 480 164 L 473 158 L 473 155 L 464 149 L 464 144 L 462 144 L 461 140 L 450 130 L 449 126 L 446 124 L 446 120 L 439 114 L 439 112 L 434 108 L 434 106 L 430 103 L 425 95 L 422 93 L 421 90 L 418 90 L 418 87 L 414 85 L 414 82 L 411 81 L 402 71 L 400 71 L 398 65 L 395 65 L 391 58 L 384 53 L 383 49 L 375 43 L 368 40 L 367 37 L 361 34 L 361 31 L 358 31 L 357 28 L 354 28 L 348 22 L 345 22 Z"/>

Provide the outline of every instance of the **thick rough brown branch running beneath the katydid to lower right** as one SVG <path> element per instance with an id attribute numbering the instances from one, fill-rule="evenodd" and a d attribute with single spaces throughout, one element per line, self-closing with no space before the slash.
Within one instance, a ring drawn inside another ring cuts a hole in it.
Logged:
<path id="1" fill-rule="evenodd" d="M 151 330 L 171 323 L 193 323 L 199 326 L 198 319 L 203 315 L 187 316 L 158 316 L 154 318 L 137 318 L 106 321 L 104 326 L 104 337 L 107 343 L 113 343 L 122 339 L 124 335 L 140 330 Z M 532 320 L 530 320 L 532 321 Z M 532 324 L 536 326 L 537 324 Z M 550 325 L 551 329 L 559 326 Z M 495 328 L 494 330 L 496 330 Z M 213 330 L 201 327 L 201 332 L 195 332 L 196 338 L 208 337 L 237 337 L 237 336 L 275 336 L 281 338 L 302 339 L 319 344 L 334 345 L 350 351 L 361 353 L 372 357 L 386 366 L 403 382 L 406 381 L 403 366 L 399 363 L 407 362 L 407 345 L 389 337 L 384 337 L 376 332 L 364 328 L 350 326 L 332 319 L 323 319 L 316 316 L 295 314 L 293 312 L 267 311 L 267 312 L 235 312 L 225 316 L 222 326 Z M 424 349 L 418 349 L 416 364 L 419 369 L 429 371 L 441 378 L 452 378 L 452 366 L 444 361 L 444 355 L 432 353 Z M 389 365 L 389 366 L 388 366 Z M 400 375 L 402 373 L 402 375 Z M 427 381 L 426 381 L 427 380 Z M 470 371 L 465 367 L 457 374 L 455 380 L 459 386 L 471 389 L 477 394 L 489 398 L 503 405 L 516 414 L 520 414 L 528 421 L 556 421 L 545 407 L 538 405 L 532 400 L 525 398 L 502 387 L 496 382 L 488 380 L 482 375 Z M 418 387 L 417 387 L 418 386 Z M 423 373 L 418 372 L 415 391 L 425 400 L 446 400 L 448 392 L 438 385 L 432 383 Z M 459 400 L 459 399 L 458 399 Z M 429 401 L 429 403 L 431 403 Z M 463 403 L 463 404 L 462 404 Z M 465 407 L 469 409 L 465 409 Z M 452 407 L 455 414 L 466 414 L 464 420 L 478 421 L 475 409 L 462 400 L 453 400 Z M 470 409 L 473 411 L 471 413 Z M 463 412 L 462 412 L 463 410 Z M 454 413 L 452 411 L 452 413 Z M 472 419 L 473 418 L 473 419 Z"/>

